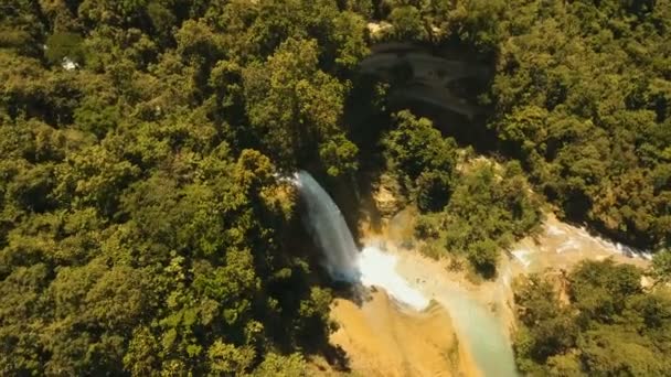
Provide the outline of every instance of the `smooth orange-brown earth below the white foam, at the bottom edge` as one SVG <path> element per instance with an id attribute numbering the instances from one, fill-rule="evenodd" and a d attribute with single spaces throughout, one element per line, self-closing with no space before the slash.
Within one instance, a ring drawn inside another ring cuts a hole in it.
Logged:
<path id="1" fill-rule="evenodd" d="M 384 291 L 376 291 L 361 305 L 337 299 L 331 315 L 340 324 L 331 343 L 347 352 L 356 375 L 480 375 L 439 305 L 422 313 L 408 312 Z"/>

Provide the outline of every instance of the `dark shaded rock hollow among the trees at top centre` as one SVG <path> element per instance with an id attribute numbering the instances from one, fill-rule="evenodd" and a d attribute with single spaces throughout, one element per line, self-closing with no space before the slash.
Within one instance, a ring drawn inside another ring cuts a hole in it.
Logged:
<path id="1" fill-rule="evenodd" d="M 479 99 L 493 79 L 490 56 L 459 45 L 381 43 L 371 47 L 371 55 L 361 62 L 359 73 L 362 77 L 358 82 L 362 85 L 388 84 L 384 104 L 387 117 L 409 109 L 416 116 L 432 119 L 445 136 L 454 137 L 462 146 L 472 146 L 481 152 L 497 147 L 496 133 L 486 127 L 491 108 Z M 360 114 L 356 104 L 370 106 L 366 95 L 365 90 L 353 91 L 350 105 L 354 106 L 345 109 L 350 123 L 356 123 Z M 354 131 L 360 131 L 361 126 Z"/>

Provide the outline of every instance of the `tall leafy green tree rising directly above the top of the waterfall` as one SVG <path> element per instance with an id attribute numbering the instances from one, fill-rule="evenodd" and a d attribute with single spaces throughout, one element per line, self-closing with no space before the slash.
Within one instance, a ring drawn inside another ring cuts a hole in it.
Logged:
<path id="1" fill-rule="evenodd" d="M 264 150 L 284 168 L 316 143 L 330 173 L 351 172 L 355 147 L 340 126 L 345 88 L 317 64 L 317 41 L 289 39 L 267 62 L 245 69 L 247 115 Z"/>

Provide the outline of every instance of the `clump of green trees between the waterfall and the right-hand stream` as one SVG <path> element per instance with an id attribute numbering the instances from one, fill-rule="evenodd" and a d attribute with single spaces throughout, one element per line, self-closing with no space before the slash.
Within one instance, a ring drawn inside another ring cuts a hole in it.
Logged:
<path id="1" fill-rule="evenodd" d="M 394 120 L 397 126 L 382 140 L 383 153 L 401 194 L 425 213 L 416 236 L 429 243 L 432 256 L 447 248 L 467 257 L 482 276 L 493 277 L 501 250 L 541 220 L 521 168 L 461 161 L 458 170 L 455 140 L 444 138 L 428 119 L 401 111 Z"/>

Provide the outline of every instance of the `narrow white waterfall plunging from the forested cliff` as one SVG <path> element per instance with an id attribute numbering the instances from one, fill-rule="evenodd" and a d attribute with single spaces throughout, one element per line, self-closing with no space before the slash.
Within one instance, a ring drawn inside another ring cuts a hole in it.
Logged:
<path id="1" fill-rule="evenodd" d="M 307 209 L 303 224 L 324 254 L 324 268 L 334 280 L 359 280 L 359 250 L 340 209 L 308 172 L 301 170 L 295 177 Z"/>

